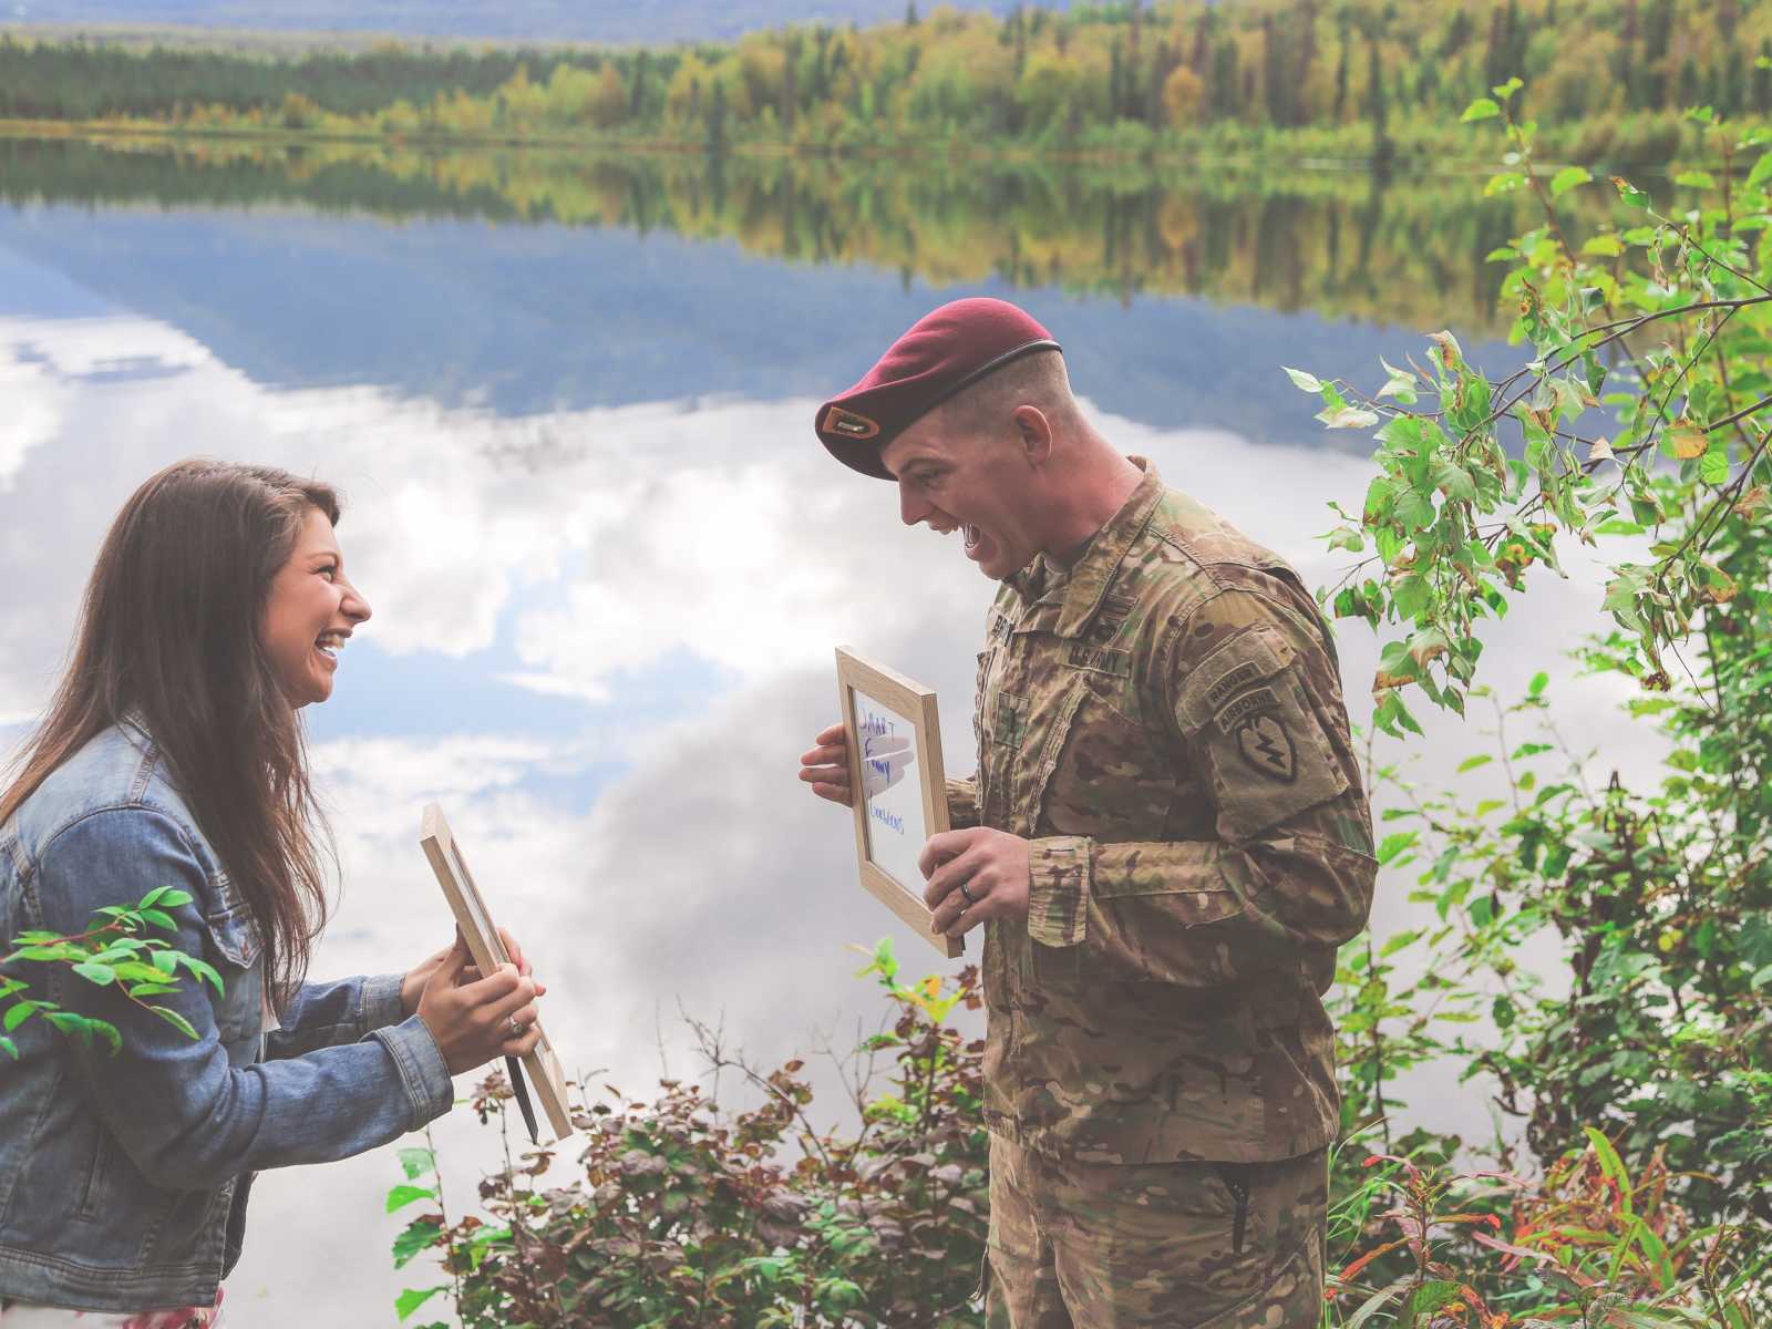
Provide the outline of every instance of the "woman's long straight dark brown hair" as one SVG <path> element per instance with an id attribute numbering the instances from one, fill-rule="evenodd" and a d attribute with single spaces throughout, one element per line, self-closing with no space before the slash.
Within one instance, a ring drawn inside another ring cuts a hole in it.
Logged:
<path id="1" fill-rule="evenodd" d="M 252 909 L 278 1006 L 326 921 L 326 822 L 259 624 L 307 514 L 337 525 L 338 507 L 330 486 L 268 466 L 190 459 L 149 478 L 105 537 L 67 670 L 0 794 L 5 822 L 62 762 L 138 716 Z"/>

